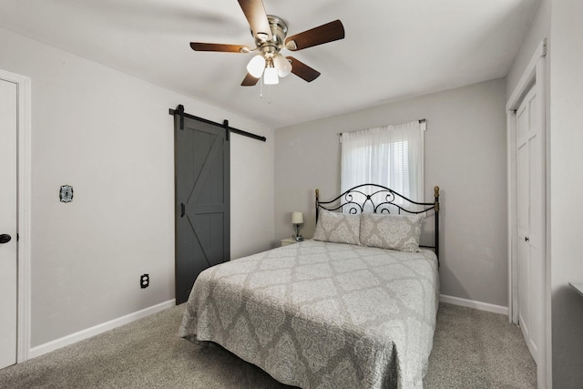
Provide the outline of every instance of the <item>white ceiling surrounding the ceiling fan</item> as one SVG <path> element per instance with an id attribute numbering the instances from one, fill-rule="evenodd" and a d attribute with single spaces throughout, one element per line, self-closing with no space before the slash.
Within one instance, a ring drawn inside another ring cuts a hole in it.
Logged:
<path id="1" fill-rule="evenodd" d="M 281 128 L 504 77 L 538 0 L 263 3 L 289 36 L 340 19 L 346 37 L 293 53 L 322 76 L 290 75 L 262 98 L 240 87 L 252 54 L 189 47 L 254 46 L 237 0 L 2 0 L 0 26 Z"/>

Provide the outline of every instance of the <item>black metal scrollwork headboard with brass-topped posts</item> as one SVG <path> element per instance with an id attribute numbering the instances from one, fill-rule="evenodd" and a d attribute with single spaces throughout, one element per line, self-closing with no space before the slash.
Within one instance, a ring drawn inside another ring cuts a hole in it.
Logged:
<path id="1" fill-rule="evenodd" d="M 439 187 L 434 188 L 434 202 L 417 202 L 382 185 L 363 184 L 348 189 L 330 201 L 320 200 L 320 190 L 316 189 L 316 222 L 320 209 L 348 213 L 424 213 L 433 210 L 435 219 L 435 244 L 421 246 L 435 250 L 439 264 Z"/>

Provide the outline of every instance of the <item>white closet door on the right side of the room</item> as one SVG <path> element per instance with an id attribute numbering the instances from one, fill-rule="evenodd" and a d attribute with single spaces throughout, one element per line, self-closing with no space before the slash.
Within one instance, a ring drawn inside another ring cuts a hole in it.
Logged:
<path id="1" fill-rule="evenodd" d="M 528 350 L 539 362 L 543 342 L 545 174 L 537 93 L 531 88 L 517 109 L 518 323 Z"/>

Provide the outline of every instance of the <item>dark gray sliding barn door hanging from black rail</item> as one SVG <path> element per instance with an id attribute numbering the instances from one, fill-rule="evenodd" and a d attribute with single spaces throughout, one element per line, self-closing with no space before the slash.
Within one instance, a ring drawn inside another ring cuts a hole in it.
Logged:
<path id="1" fill-rule="evenodd" d="M 230 152 L 225 128 L 188 117 L 174 121 L 179 304 L 200 271 L 230 259 Z"/>

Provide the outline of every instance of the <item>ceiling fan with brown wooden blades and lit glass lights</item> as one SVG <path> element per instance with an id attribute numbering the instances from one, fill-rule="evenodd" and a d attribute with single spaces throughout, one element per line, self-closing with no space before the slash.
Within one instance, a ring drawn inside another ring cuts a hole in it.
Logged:
<path id="1" fill-rule="evenodd" d="M 261 76 L 267 85 L 278 84 L 279 77 L 290 73 L 312 82 L 320 76 L 320 72 L 297 60 L 293 56 L 281 56 L 280 51 L 286 48 L 291 51 L 322 45 L 344 37 L 344 26 L 340 20 L 314 27 L 310 30 L 287 36 L 288 26 L 278 16 L 267 15 L 262 0 L 237 0 L 243 14 L 247 17 L 251 34 L 255 37 L 255 47 L 240 45 L 223 45 L 216 43 L 190 42 L 195 51 L 216 51 L 224 53 L 258 54 L 251 58 L 247 65 L 247 76 L 240 84 L 252 87 Z"/>

